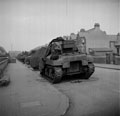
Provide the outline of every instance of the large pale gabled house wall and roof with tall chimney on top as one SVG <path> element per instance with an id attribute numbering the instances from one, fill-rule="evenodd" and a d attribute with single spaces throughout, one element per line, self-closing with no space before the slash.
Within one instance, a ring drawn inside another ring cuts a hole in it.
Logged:
<path id="1" fill-rule="evenodd" d="M 98 23 L 95 23 L 92 29 L 81 29 L 79 35 L 86 38 L 87 52 L 89 52 L 89 48 L 109 48 L 109 41 L 116 40 L 116 35 L 108 35 L 100 29 L 100 24 Z"/>

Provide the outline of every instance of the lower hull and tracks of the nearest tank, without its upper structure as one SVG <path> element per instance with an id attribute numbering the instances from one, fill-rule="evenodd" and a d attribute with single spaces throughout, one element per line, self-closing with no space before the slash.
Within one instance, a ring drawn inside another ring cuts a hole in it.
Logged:
<path id="1" fill-rule="evenodd" d="M 79 75 L 79 78 L 89 79 L 95 71 L 94 64 L 88 61 L 86 55 L 61 56 L 55 61 L 47 58 L 42 64 L 45 67 L 40 72 L 50 78 L 52 83 L 60 82 L 67 75 Z"/>

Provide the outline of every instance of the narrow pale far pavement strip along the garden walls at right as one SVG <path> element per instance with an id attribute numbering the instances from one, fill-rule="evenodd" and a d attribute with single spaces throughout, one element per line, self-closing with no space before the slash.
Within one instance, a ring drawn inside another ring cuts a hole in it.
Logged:
<path id="1" fill-rule="evenodd" d="M 97 64 L 97 63 L 95 63 L 95 67 L 120 70 L 120 65 L 113 65 L 113 64 Z"/>

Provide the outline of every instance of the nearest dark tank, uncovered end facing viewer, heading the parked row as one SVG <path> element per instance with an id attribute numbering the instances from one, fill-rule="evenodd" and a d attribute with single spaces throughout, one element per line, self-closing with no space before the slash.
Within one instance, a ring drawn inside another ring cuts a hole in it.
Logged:
<path id="1" fill-rule="evenodd" d="M 94 73 L 93 58 L 86 54 L 85 37 L 75 40 L 53 39 L 39 61 L 39 70 L 52 83 L 58 83 L 66 75 L 78 75 L 89 79 Z"/>

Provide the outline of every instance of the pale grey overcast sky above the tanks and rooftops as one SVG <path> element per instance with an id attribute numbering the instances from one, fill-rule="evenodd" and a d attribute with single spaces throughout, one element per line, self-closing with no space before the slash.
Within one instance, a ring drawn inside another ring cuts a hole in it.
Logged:
<path id="1" fill-rule="evenodd" d="M 120 32 L 120 0 L 0 0 L 0 46 L 29 51 L 95 23 Z"/>

